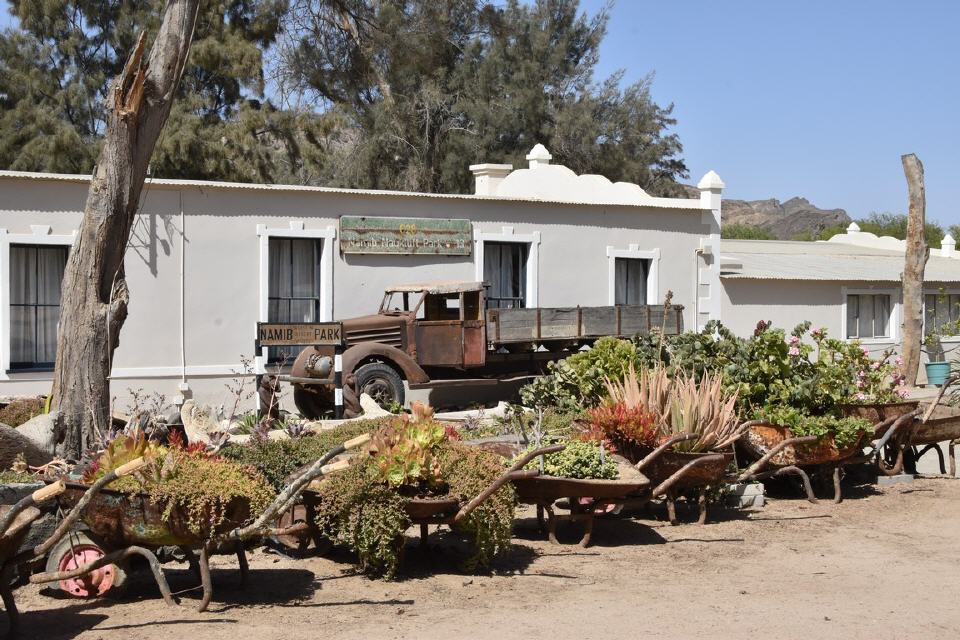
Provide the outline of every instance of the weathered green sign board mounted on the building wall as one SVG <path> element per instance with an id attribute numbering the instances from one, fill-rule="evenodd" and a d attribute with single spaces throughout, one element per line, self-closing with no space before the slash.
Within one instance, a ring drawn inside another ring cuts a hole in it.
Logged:
<path id="1" fill-rule="evenodd" d="M 342 253 L 468 256 L 473 245 L 469 220 L 342 216 Z"/>

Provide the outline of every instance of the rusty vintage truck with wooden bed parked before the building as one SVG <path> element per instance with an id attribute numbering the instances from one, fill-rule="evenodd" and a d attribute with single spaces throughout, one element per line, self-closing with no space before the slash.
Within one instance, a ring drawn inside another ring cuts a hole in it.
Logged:
<path id="1" fill-rule="evenodd" d="M 603 336 L 683 331 L 683 306 L 488 309 L 482 282 L 409 284 L 384 293 L 377 313 L 342 321 L 346 415 L 361 393 L 382 406 L 405 399 L 405 385 L 504 379 L 542 373 L 546 364 Z M 307 418 L 333 406 L 332 347 L 307 347 L 286 380 Z"/>

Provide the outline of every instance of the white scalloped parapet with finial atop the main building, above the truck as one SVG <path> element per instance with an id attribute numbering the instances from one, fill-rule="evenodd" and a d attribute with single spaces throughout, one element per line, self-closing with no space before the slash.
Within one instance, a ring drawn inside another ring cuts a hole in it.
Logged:
<path id="1" fill-rule="evenodd" d="M 495 185 L 492 181 L 481 183 L 477 170 L 484 167 L 509 165 L 471 166 L 471 171 L 478 176 L 477 195 L 559 200 L 574 204 L 612 204 L 675 209 L 708 208 L 702 199 L 656 198 L 631 182 L 611 182 L 604 176 L 595 174 L 577 175 L 562 164 L 551 164 L 553 156 L 542 144 L 537 144 L 531 149 L 526 159 L 529 163 L 528 168 L 510 172 L 509 175 L 496 180 Z"/>

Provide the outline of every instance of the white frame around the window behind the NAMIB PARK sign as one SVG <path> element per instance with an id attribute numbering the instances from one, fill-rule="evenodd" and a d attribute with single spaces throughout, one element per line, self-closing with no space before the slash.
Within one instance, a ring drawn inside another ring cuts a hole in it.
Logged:
<path id="1" fill-rule="evenodd" d="M 267 227 L 257 225 L 257 236 L 260 239 L 260 309 L 257 314 L 260 322 L 268 322 L 270 317 L 270 238 L 313 238 L 321 241 L 320 245 L 320 317 L 317 322 L 333 320 L 333 254 L 334 241 L 337 238 L 336 227 L 326 226 L 319 229 L 307 229 L 303 220 L 290 220 L 287 227 Z M 251 327 L 251 334 L 256 327 Z M 268 348 L 263 347 L 257 354 L 254 363 L 254 372 L 266 373 L 268 362 Z"/>

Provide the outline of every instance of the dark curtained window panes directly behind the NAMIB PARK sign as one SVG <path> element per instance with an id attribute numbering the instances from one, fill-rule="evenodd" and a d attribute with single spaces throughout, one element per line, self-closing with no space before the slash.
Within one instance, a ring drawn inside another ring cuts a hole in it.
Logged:
<path id="1" fill-rule="evenodd" d="M 313 238 L 270 238 L 269 322 L 320 321 L 320 256 L 322 244 Z M 292 361 L 302 347 L 272 347 L 269 361 L 281 352 Z"/>

